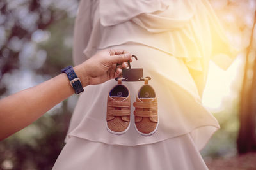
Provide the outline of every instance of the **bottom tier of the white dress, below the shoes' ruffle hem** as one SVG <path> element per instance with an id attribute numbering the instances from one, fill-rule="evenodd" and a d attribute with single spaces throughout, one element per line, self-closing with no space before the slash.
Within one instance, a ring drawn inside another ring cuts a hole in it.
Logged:
<path id="1" fill-rule="evenodd" d="M 207 170 L 190 134 L 140 146 L 108 145 L 72 136 L 52 170 Z"/>

